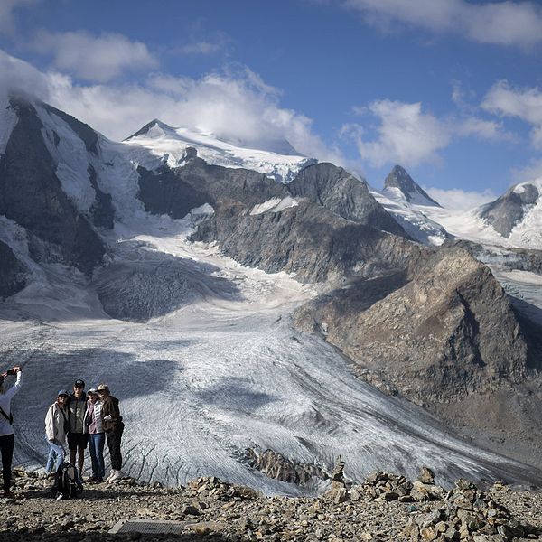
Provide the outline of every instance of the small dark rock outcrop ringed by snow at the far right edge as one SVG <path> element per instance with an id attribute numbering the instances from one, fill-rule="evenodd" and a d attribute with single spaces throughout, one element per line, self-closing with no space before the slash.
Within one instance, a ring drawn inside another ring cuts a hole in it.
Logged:
<path id="1" fill-rule="evenodd" d="M 515 192 L 512 187 L 499 199 L 487 203 L 481 208 L 480 217 L 491 224 L 500 235 L 508 238 L 512 229 L 525 217 L 529 206 L 538 201 L 537 187 L 532 184 L 523 184 L 523 192 Z"/>

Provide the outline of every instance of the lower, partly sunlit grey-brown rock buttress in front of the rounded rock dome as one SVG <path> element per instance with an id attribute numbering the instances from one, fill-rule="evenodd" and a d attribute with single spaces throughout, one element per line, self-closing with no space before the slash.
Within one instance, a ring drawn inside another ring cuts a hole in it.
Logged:
<path id="1" fill-rule="evenodd" d="M 425 253 L 404 238 L 341 219 L 307 200 L 257 215 L 239 203 L 220 205 L 192 239 L 216 240 L 222 252 L 244 265 L 295 273 L 303 282 L 372 275 Z"/>

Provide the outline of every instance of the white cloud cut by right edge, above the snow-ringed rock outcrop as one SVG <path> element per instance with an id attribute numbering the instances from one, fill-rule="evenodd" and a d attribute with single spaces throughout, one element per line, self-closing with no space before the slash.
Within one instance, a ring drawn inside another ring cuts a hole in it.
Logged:
<path id="1" fill-rule="evenodd" d="M 482 107 L 527 122 L 532 126 L 531 143 L 542 148 L 542 92 L 539 89 L 513 89 L 508 81 L 499 81 L 483 98 Z"/>

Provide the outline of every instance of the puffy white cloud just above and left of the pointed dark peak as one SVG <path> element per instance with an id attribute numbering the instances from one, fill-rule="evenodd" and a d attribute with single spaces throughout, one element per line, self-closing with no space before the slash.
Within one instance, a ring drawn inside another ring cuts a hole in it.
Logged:
<path id="1" fill-rule="evenodd" d="M 412 166 L 435 162 L 437 152 L 451 140 L 450 130 L 436 117 L 422 110 L 420 103 L 406 104 L 388 99 L 374 101 L 357 113 L 368 111 L 378 117 L 378 138 L 368 141 L 355 135 L 360 156 L 373 167 L 389 163 Z M 351 133 L 350 125 L 350 133 Z"/>

